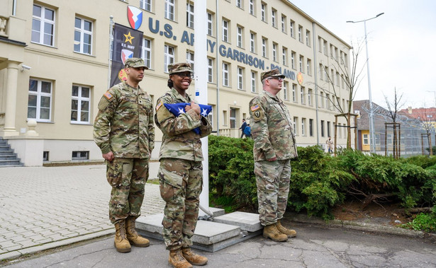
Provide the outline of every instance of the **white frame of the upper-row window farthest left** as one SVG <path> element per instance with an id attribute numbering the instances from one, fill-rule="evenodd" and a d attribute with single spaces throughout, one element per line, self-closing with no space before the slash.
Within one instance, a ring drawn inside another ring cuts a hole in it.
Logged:
<path id="1" fill-rule="evenodd" d="M 41 5 L 36 5 L 33 4 L 33 8 L 35 8 L 35 6 L 39 7 L 41 9 L 41 16 L 36 16 L 35 14 L 33 14 L 32 12 L 32 35 L 31 35 L 31 42 L 34 42 L 36 44 L 40 44 L 40 45 L 47 45 L 49 47 L 54 47 L 55 46 L 55 19 L 56 19 L 56 11 L 50 8 L 46 8 L 45 6 L 41 6 Z M 45 18 L 45 12 L 47 11 L 51 11 L 53 13 L 53 20 L 47 19 Z M 38 21 L 40 23 L 40 27 L 39 29 L 34 29 L 33 28 L 33 23 L 35 21 Z M 52 33 L 45 33 L 45 25 L 46 24 L 50 24 L 52 25 Z M 35 33 L 35 37 L 38 36 L 38 40 L 34 40 L 33 37 L 33 33 Z M 45 35 L 50 36 L 50 44 L 47 44 L 45 42 Z"/>

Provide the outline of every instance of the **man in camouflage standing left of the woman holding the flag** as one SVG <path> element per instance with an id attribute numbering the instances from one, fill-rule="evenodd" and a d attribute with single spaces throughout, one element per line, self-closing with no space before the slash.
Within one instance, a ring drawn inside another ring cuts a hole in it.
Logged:
<path id="1" fill-rule="evenodd" d="M 135 231 L 148 161 L 155 147 L 152 100 L 139 86 L 145 69 L 142 59 L 125 61 L 127 81 L 104 93 L 94 122 L 94 141 L 106 160 L 106 176 L 112 186 L 109 219 L 116 228 L 114 245 L 118 252 L 130 252 L 130 243 L 150 245 Z"/>

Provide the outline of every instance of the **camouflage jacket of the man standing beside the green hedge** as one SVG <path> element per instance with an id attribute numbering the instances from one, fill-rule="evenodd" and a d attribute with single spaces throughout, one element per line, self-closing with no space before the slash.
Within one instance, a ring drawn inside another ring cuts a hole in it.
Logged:
<path id="1" fill-rule="evenodd" d="M 250 100 L 250 123 L 255 161 L 297 157 L 291 115 L 279 97 L 263 91 Z"/>

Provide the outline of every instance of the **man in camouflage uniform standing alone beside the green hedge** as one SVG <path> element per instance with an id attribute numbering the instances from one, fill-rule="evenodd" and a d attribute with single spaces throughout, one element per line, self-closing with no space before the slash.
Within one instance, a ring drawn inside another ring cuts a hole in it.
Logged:
<path id="1" fill-rule="evenodd" d="M 276 95 L 284 75 L 272 69 L 262 73 L 260 79 L 263 91 L 250 101 L 259 221 L 265 238 L 286 241 L 296 236 L 296 231 L 280 223 L 288 202 L 290 160 L 297 157 L 296 142 L 291 115 Z"/>

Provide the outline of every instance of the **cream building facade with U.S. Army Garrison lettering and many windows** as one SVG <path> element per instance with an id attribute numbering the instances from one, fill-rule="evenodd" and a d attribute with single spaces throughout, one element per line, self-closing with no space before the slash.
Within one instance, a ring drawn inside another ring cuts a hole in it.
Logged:
<path id="1" fill-rule="evenodd" d="M 140 8 L 142 58 L 149 67 L 140 86 L 155 102 L 168 90 L 169 63 L 194 64 L 194 5 L 186 0 L 1 1 L 0 136 L 22 159 L 29 151 L 38 158 L 25 165 L 101 160 L 92 124 L 109 84 L 111 21 L 130 27 L 128 6 Z M 278 68 L 286 76 L 279 97 L 294 117 L 298 146 L 325 146 L 335 133 L 336 107 L 348 105 L 346 74 L 340 70 L 350 64 L 350 45 L 286 0 L 207 1 L 206 17 L 207 62 L 201 68 L 208 69 L 213 130 L 240 136 L 242 118 L 250 122 L 248 103 L 262 91 L 260 74 Z M 195 95 L 194 85 L 189 93 Z M 345 146 L 341 120 L 337 144 Z M 152 158 L 162 139 L 156 134 Z"/>

